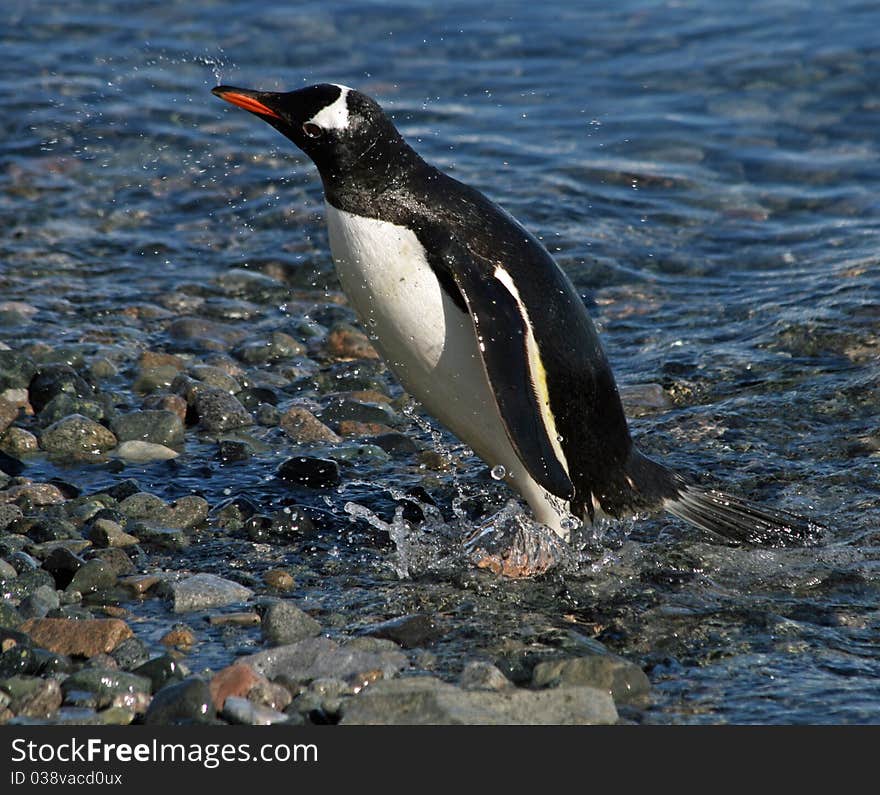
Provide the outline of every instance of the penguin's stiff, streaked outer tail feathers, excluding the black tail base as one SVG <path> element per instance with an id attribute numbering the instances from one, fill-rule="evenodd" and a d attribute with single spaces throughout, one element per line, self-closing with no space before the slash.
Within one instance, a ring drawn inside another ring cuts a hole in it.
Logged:
<path id="1" fill-rule="evenodd" d="M 735 544 L 812 546 L 825 528 L 804 516 L 765 508 L 716 489 L 683 483 L 663 507 L 673 516 L 716 538 Z"/>

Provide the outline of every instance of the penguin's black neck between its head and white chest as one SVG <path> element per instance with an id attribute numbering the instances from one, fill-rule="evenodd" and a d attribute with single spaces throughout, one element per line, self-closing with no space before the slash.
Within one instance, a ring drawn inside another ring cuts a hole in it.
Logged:
<path id="1" fill-rule="evenodd" d="M 361 214 L 389 192 L 410 188 L 413 178 L 431 167 L 402 138 L 380 140 L 348 162 L 319 167 L 324 196 L 340 210 Z"/>

